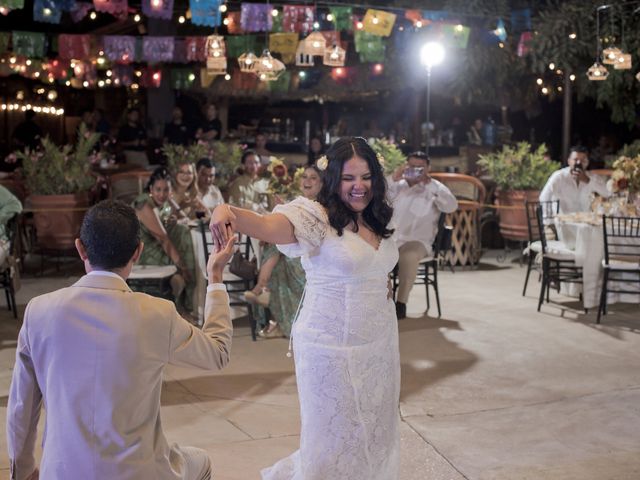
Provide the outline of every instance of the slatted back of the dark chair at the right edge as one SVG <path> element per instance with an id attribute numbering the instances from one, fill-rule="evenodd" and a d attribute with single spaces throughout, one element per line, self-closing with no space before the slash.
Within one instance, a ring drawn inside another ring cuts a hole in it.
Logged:
<path id="1" fill-rule="evenodd" d="M 602 216 L 604 259 L 640 264 L 640 218 Z"/>

